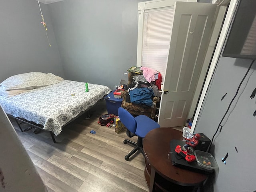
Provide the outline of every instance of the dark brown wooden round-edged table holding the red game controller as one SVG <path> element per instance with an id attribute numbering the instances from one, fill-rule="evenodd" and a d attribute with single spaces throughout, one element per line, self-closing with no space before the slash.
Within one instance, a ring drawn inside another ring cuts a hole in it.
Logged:
<path id="1" fill-rule="evenodd" d="M 144 138 L 144 175 L 150 192 L 196 191 L 208 175 L 178 168 L 172 165 L 170 141 L 182 140 L 182 132 L 172 128 L 156 128 Z"/>

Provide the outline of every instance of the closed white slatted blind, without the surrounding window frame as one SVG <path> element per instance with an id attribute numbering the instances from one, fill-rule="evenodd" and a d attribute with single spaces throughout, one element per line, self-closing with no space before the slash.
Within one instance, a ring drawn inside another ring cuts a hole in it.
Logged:
<path id="1" fill-rule="evenodd" d="M 162 74 L 162 82 L 168 61 L 172 33 L 174 6 L 148 10 L 144 14 L 142 66 Z"/>

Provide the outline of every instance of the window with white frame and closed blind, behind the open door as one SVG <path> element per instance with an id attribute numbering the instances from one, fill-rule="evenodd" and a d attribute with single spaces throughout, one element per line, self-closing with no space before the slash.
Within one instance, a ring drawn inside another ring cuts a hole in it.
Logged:
<path id="1" fill-rule="evenodd" d="M 196 0 L 179 0 L 196 2 Z M 152 0 L 138 3 L 137 66 L 166 71 L 176 0 Z"/>

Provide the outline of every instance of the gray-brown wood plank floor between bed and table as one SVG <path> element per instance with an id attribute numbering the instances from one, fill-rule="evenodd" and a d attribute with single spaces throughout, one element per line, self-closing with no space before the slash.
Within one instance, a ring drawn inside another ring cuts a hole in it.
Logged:
<path id="1" fill-rule="evenodd" d="M 138 154 L 124 160 L 133 147 L 124 144 L 126 132 L 98 125 L 107 114 L 104 100 L 92 108 L 93 116 L 81 116 L 62 129 L 52 142 L 50 133 L 32 130 L 21 132 L 14 121 L 20 140 L 34 162 L 49 192 L 144 192 L 144 157 Z M 22 125 L 23 129 L 26 125 Z M 91 134 L 90 130 L 96 130 Z M 131 138 L 136 141 L 136 137 Z"/>

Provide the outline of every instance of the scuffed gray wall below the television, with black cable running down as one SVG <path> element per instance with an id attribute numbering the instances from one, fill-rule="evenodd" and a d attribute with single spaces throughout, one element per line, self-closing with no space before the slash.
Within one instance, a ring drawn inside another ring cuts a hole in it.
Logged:
<path id="1" fill-rule="evenodd" d="M 195 132 L 203 132 L 212 139 L 222 116 L 234 97 L 238 85 L 252 60 L 222 57 L 212 79 Z M 214 181 L 214 192 L 252 192 L 256 190 L 255 135 L 256 98 L 249 97 L 256 87 L 256 63 L 240 87 L 238 96 L 217 134 L 211 148 L 219 170 Z M 221 101 L 222 96 L 226 97 Z M 238 152 L 236 152 L 237 147 Z M 226 165 L 221 158 L 228 153 Z"/>

